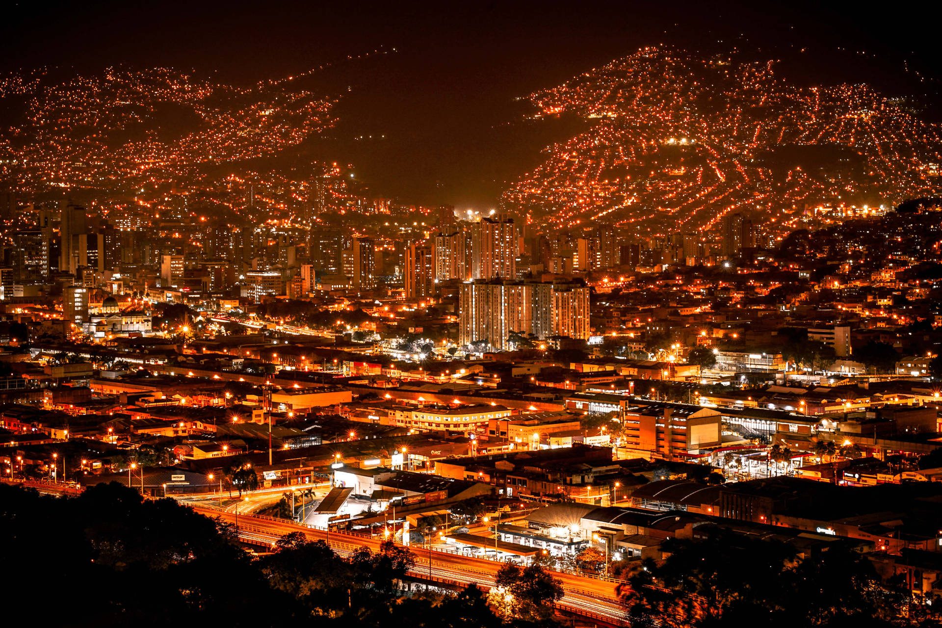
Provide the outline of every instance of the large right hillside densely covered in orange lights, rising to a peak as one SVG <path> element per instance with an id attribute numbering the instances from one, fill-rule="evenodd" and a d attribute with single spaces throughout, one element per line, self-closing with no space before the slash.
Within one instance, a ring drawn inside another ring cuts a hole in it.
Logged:
<path id="1" fill-rule="evenodd" d="M 644 48 L 529 99 L 535 118 L 594 121 L 503 194 L 505 208 L 547 226 L 696 231 L 731 211 L 787 220 L 942 184 L 939 128 L 906 99 L 863 84 L 799 88 L 773 61 Z"/>

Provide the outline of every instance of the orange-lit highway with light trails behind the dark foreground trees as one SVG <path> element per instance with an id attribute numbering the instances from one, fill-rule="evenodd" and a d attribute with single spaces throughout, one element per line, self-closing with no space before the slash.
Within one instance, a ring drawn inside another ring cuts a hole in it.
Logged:
<path id="1" fill-rule="evenodd" d="M 191 504 L 196 511 L 207 517 L 219 517 L 222 521 L 235 523 L 235 513 L 216 507 Z M 309 528 L 297 523 L 282 520 L 239 514 L 239 538 L 256 544 L 274 544 L 285 534 L 300 532 L 311 540 L 327 540 L 334 551 L 347 555 L 358 547 L 379 551 L 382 538 L 372 538 L 349 532 L 328 533 L 326 530 Z M 442 549 L 428 549 L 410 546 L 415 555 L 413 573 L 416 577 L 432 580 L 445 580 L 460 585 L 475 583 L 481 588 L 494 586 L 495 574 L 504 564 L 499 561 L 463 556 L 457 552 Z M 431 565 L 430 565 L 431 561 Z M 625 623 L 625 613 L 615 593 L 616 581 L 605 578 L 592 578 L 574 573 L 552 572 L 560 580 L 565 595 L 560 606 L 579 615 L 621 625 Z"/>

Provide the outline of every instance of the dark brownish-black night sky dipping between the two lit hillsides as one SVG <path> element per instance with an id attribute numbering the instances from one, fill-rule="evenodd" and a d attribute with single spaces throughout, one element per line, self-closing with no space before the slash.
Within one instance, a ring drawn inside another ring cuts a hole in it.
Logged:
<path id="1" fill-rule="evenodd" d="M 866 80 L 934 97 L 934 84 L 902 72 L 905 59 L 937 75 L 930 16 L 906 3 L 879 13 L 821 4 L 8 2 L 0 69 L 169 65 L 253 81 L 338 63 L 332 79 L 350 88 L 342 121 L 311 154 L 353 163 L 378 194 L 489 207 L 542 146 L 574 131 L 519 123 L 525 107 L 514 99 L 643 45 L 757 48 L 783 58 L 796 81 Z M 789 64 L 801 47 L 813 54 Z M 390 54 L 345 61 L 377 49 Z M 386 137 L 353 139 L 369 134 Z"/>

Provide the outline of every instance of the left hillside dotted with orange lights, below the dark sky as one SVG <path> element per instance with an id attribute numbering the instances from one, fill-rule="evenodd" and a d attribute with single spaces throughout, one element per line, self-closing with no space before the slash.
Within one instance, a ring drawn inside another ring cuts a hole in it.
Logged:
<path id="1" fill-rule="evenodd" d="M 0 77 L 0 178 L 33 194 L 134 193 L 280 153 L 335 122 L 313 72 L 249 87 L 166 68 Z"/>

